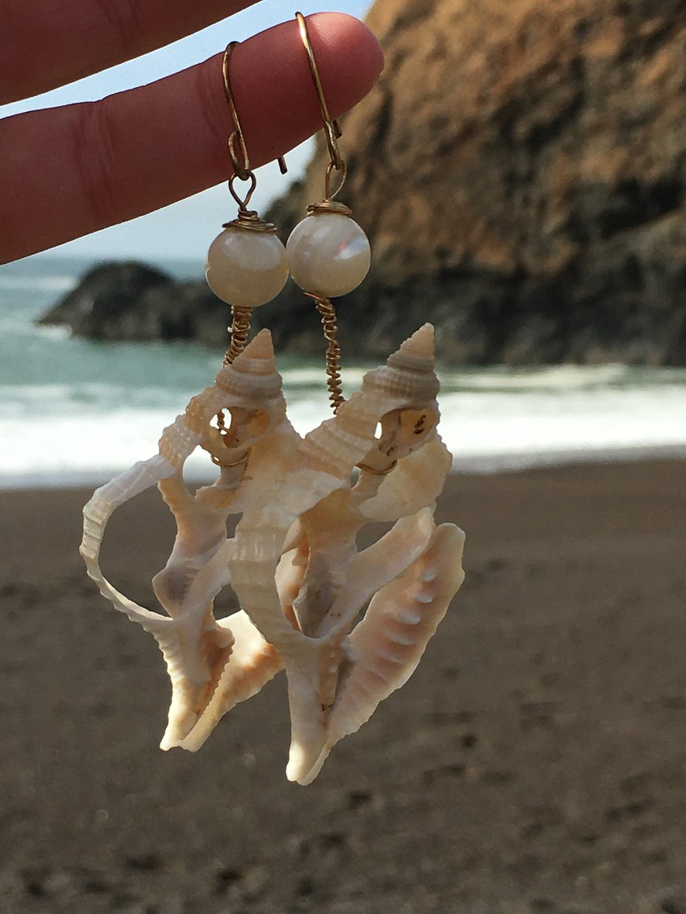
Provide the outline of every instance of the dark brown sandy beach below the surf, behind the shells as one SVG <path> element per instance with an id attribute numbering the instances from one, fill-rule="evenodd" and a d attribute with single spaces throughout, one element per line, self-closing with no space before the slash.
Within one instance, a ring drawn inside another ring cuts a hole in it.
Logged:
<path id="1" fill-rule="evenodd" d="M 85 497 L 0 494 L 2 914 L 686 914 L 686 463 L 451 479 L 466 583 L 306 788 L 283 675 L 157 749 L 161 655 L 85 577 Z M 171 528 L 139 505 L 103 564 L 145 601 Z"/>

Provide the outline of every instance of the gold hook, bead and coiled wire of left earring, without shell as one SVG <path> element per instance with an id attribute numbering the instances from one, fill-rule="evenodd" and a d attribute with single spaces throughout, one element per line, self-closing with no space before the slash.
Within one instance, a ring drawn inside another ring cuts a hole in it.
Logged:
<path id="1" fill-rule="evenodd" d="M 234 131 L 229 137 L 229 154 L 233 174 L 229 178 L 230 195 L 238 204 L 238 216 L 225 222 L 223 231 L 209 245 L 205 278 L 212 292 L 231 306 L 231 345 L 229 364 L 238 356 L 250 335 L 252 308 L 271 302 L 284 288 L 288 266 L 284 245 L 276 237 L 276 228 L 265 222 L 254 209 L 248 209 L 257 178 L 250 166 L 248 147 L 241 129 L 236 102 L 230 83 L 230 57 L 240 42 L 231 41 L 224 51 L 222 75 L 229 102 Z M 238 150 L 236 148 L 238 144 Z M 284 157 L 279 157 L 281 173 L 286 173 Z M 236 180 L 248 181 L 244 197 L 236 190 Z"/>

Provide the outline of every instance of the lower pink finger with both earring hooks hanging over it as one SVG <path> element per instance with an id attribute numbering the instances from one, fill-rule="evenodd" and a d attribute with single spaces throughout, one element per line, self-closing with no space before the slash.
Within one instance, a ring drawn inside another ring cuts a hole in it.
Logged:
<path id="1" fill-rule="evenodd" d="M 337 117 L 371 89 L 381 49 L 352 16 L 324 13 L 308 23 Z M 295 20 L 234 49 L 231 86 L 253 166 L 321 125 Z M 103 101 L 7 118 L 0 122 L 0 262 L 218 184 L 231 172 L 231 130 L 221 55 Z"/>

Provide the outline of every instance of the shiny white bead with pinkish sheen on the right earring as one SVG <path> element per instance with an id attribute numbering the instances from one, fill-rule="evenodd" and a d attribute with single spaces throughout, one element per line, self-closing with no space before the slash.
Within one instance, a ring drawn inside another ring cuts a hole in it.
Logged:
<path id="1" fill-rule="evenodd" d="M 348 216 L 316 213 L 295 226 L 286 256 L 301 289 L 335 298 L 357 289 L 369 272 L 370 242 Z"/>

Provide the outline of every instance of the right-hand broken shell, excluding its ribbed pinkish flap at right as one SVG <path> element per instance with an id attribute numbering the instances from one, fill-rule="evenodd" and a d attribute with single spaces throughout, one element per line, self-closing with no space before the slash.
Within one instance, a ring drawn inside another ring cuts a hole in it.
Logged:
<path id="1" fill-rule="evenodd" d="M 433 342 L 426 324 L 385 367 L 364 377 L 362 389 L 334 419 L 305 436 L 293 472 L 269 505 L 244 513 L 229 548 L 231 584 L 241 606 L 284 660 L 292 727 L 289 780 L 311 780 L 328 745 L 339 679 L 355 669 L 348 635 L 359 611 L 434 537 L 434 499 L 451 459 L 435 431 Z M 408 415 L 409 424 L 403 420 Z M 430 472 L 424 472 L 427 459 L 435 464 Z M 363 468 L 353 486 L 359 462 L 371 469 Z M 373 472 L 391 462 L 396 465 L 388 475 Z M 393 475 L 412 478 L 413 491 L 394 486 Z M 400 519 L 379 543 L 358 553 L 359 529 L 378 515 Z M 294 543 L 306 554 L 293 602 L 295 624 L 276 585 L 282 554 Z"/>

